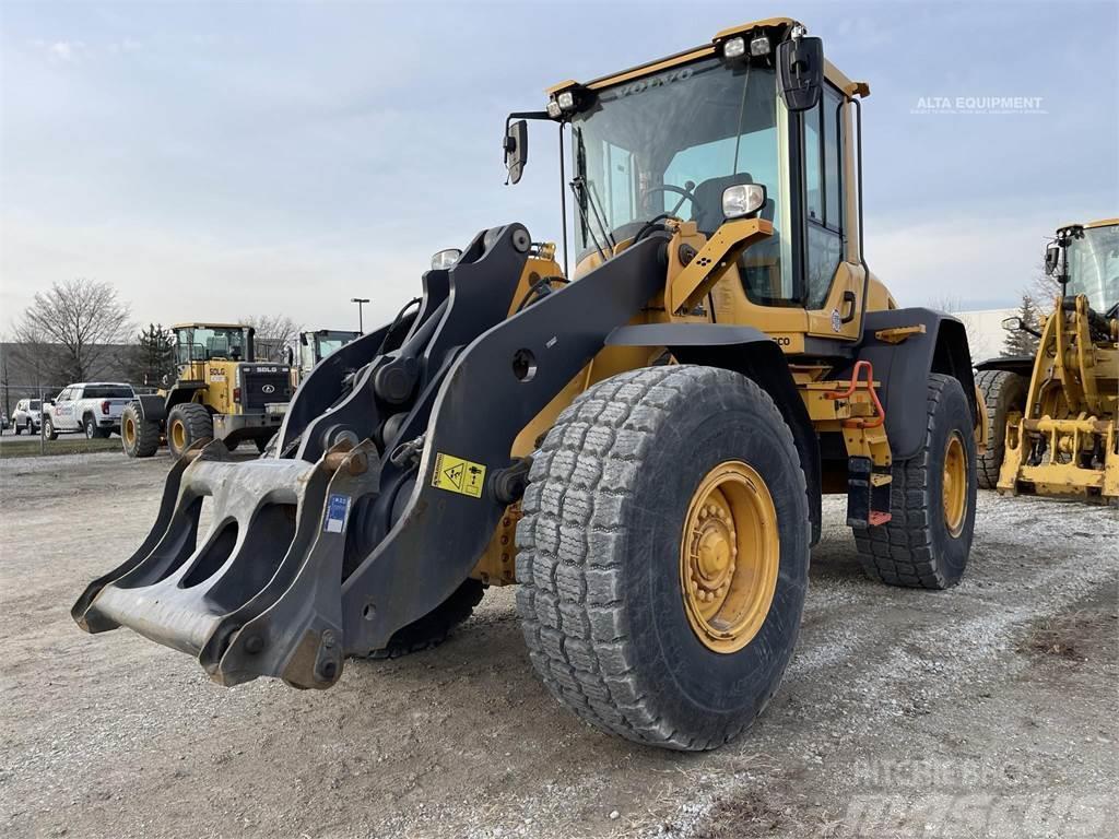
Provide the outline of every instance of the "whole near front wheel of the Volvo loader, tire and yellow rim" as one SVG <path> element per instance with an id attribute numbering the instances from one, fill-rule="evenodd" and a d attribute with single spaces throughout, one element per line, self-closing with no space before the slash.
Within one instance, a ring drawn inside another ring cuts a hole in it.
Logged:
<path id="1" fill-rule="evenodd" d="M 728 370 L 648 367 L 565 409 L 517 528 L 517 611 L 551 692 L 637 743 L 715 748 L 800 628 L 810 526 L 792 434 Z"/>

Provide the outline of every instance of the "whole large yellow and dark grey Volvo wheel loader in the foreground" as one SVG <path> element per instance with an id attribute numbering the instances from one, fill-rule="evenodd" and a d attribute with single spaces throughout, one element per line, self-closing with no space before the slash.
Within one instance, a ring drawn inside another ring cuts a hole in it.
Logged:
<path id="1" fill-rule="evenodd" d="M 950 586 L 971 544 L 967 340 L 867 268 L 867 93 L 780 18 L 511 114 L 510 182 L 529 120 L 571 151 L 571 275 L 519 224 L 440 252 L 417 307 L 307 377 L 273 456 L 179 459 L 75 620 L 224 685 L 327 688 L 517 583 L 533 664 L 581 717 L 734 737 L 792 654 L 821 493 L 887 583 Z"/>

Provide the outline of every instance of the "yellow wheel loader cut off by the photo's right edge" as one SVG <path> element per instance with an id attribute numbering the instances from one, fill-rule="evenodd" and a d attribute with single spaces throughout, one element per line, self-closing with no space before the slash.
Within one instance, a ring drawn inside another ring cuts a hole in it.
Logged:
<path id="1" fill-rule="evenodd" d="M 1045 272 L 1061 293 L 1035 355 L 976 366 L 991 441 L 979 486 L 1117 505 L 1119 218 L 1059 228 Z"/>

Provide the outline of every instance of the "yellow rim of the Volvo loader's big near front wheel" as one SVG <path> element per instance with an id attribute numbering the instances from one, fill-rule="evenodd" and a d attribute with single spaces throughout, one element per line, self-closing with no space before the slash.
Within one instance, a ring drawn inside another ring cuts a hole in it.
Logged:
<path id="1" fill-rule="evenodd" d="M 720 463 L 692 496 L 680 540 L 684 610 L 707 649 L 737 652 L 758 634 L 773 603 L 780 556 L 765 482 L 742 461 Z"/>

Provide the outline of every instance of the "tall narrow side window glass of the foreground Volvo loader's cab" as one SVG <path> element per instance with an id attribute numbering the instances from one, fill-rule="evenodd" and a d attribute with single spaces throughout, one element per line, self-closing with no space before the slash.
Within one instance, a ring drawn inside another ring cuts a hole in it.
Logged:
<path id="1" fill-rule="evenodd" d="M 805 114 L 805 216 L 808 309 L 820 309 L 843 258 L 843 98 L 830 86 Z"/>

